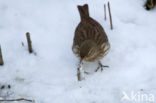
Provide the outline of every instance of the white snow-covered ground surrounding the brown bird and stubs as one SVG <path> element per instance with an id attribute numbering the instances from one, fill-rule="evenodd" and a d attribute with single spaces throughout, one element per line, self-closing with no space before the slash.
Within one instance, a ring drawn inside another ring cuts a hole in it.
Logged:
<path id="1" fill-rule="evenodd" d="M 146 11 L 144 2 L 110 0 L 111 31 L 109 19 L 104 21 L 106 0 L 0 0 L 5 63 L 0 66 L 0 85 L 11 84 L 9 98 L 30 98 L 36 103 L 135 103 L 122 101 L 123 91 L 153 94 L 155 101 L 150 103 L 155 103 L 156 8 Z M 97 63 L 86 63 L 91 74 L 78 82 L 78 59 L 71 47 L 80 21 L 77 5 L 85 3 L 108 35 L 111 50 L 102 62 L 110 68 L 94 73 Z M 26 32 L 31 34 L 36 56 L 27 51 Z"/>

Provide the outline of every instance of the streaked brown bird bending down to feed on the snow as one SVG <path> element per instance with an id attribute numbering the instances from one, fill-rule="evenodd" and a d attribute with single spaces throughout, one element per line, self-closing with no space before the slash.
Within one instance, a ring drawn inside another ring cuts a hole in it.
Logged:
<path id="1" fill-rule="evenodd" d="M 104 66 L 101 59 L 108 53 L 110 43 L 103 27 L 89 15 L 88 4 L 77 6 L 80 14 L 80 23 L 75 29 L 73 38 L 73 53 L 79 58 L 80 64 L 84 61 L 96 62 L 98 61 L 98 71 Z"/>

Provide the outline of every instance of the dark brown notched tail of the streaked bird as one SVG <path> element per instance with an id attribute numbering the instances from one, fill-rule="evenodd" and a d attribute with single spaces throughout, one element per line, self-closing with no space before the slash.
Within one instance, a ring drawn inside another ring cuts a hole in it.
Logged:
<path id="1" fill-rule="evenodd" d="M 80 13 L 81 20 L 84 20 L 89 17 L 88 4 L 85 4 L 83 6 L 77 6 L 77 7 Z"/>

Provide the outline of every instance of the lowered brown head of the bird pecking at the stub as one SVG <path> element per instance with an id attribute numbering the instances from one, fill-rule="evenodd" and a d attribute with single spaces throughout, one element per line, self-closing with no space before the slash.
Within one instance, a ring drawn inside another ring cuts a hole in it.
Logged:
<path id="1" fill-rule="evenodd" d="M 95 42 L 91 40 L 84 41 L 80 46 L 81 61 L 90 61 L 98 53 L 98 48 Z"/>

